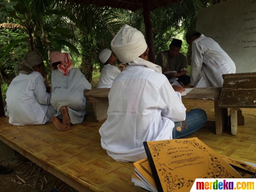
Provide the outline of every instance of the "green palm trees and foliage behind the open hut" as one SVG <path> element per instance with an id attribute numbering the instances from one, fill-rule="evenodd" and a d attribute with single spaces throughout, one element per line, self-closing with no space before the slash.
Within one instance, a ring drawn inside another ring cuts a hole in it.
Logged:
<path id="1" fill-rule="evenodd" d="M 172 38 L 183 40 L 186 32 L 195 28 L 197 10 L 210 2 L 180 0 L 151 12 L 156 54 L 168 50 Z M 145 35 L 142 10 L 131 12 L 59 0 L 4 0 L 0 2 L 0 23 L 3 22 L 25 27 L 0 30 L 0 70 L 4 69 L 4 75 L 14 74 L 13 70 L 24 54 L 36 50 L 46 60 L 46 72 L 50 77 L 48 54 L 58 50 L 69 52 L 74 67 L 79 67 L 90 80 L 92 71 L 100 68 L 99 52 L 110 48 L 111 40 L 124 24 Z M 187 50 L 183 40 L 180 52 L 186 54 Z"/>

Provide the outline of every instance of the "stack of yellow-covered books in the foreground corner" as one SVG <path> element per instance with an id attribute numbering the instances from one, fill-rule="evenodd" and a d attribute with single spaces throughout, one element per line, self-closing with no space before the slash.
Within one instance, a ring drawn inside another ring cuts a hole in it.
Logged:
<path id="1" fill-rule="evenodd" d="M 220 156 L 198 138 L 144 142 L 148 158 L 134 163 L 134 185 L 147 191 L 189 192 L 195 178 L 255 178 L 256 168 Z"/>

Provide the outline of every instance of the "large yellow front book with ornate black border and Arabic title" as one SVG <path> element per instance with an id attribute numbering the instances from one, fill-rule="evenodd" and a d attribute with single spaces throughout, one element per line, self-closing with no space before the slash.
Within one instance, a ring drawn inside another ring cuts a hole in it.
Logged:
<path id="1" fill-rule="evenodd" d="M 158 192 L 189 192 L 196 178 L 242 178 L 198 138 L 144 142 Z"/>

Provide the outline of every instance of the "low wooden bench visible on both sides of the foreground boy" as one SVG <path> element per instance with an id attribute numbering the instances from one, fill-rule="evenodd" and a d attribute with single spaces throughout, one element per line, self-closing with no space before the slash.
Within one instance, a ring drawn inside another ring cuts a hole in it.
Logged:
<path id="1" fill-rule="evenodd" d="M 108 117 L 108 93 L 110 88 L 94 88 L 84 92 L 84 96 L 92 102 L 94 108 L 94 117 L 96 121 L 104 120 Z M 194 88 L 182 98 L 214 98 L 215 126 L 216 134 L 221 135 L 224 127 L 228 124 L 228 110 L 219 108 L 221 88 Z"/>

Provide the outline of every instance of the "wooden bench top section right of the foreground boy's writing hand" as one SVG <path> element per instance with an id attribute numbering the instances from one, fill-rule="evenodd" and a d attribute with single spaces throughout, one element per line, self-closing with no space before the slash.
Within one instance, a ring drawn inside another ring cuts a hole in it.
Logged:
<path id="1" fill-rule="evenodd" d="M 182 98 L 220 98 L 221 87 L 193 88 Z"/>

